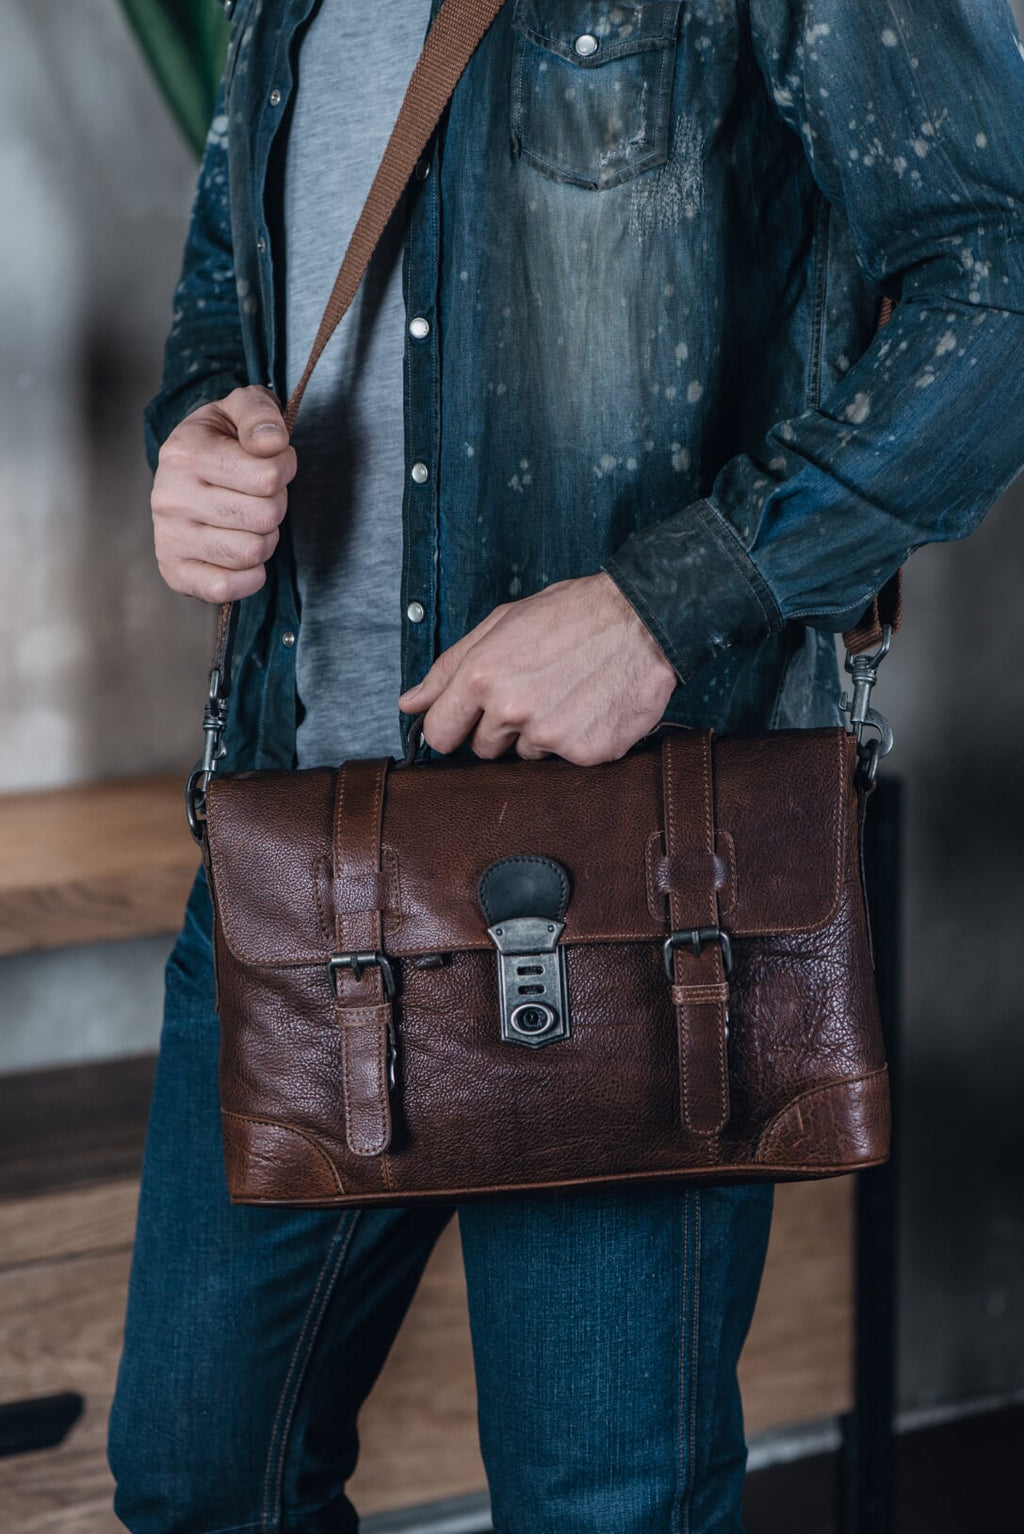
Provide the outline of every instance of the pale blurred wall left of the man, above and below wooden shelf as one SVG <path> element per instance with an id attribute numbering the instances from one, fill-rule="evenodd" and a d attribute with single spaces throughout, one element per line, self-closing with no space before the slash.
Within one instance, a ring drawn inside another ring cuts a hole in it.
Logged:
<path id="1" fill-rule="evenodd" d="M 141 408 L 195 163 L 117 0 L 0 49 L 0 792 L 196 755 L 210 614 L 156 574 Z M 0 960 L 0 1069 L 155 1048 L 162 940 Z"/>

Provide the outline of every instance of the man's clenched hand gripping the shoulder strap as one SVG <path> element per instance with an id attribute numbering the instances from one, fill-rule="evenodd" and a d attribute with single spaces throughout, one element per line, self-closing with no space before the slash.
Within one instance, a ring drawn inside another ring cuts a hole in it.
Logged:
<path id="1" fill-rule="evenodd" d="M 270 390 L 236 388 L 185 416 L 159 449 L 152 495 L 156 565 L 172 591 L 216 603 L 259 591 L 294 472 Z"/>

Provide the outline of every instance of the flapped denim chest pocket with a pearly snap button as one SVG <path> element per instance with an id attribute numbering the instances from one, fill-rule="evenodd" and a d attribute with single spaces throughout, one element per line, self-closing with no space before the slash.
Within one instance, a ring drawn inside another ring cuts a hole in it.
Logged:
<path id="1" fill-rule="evenodd" d="M 682 0 L 515 0 L 512 144 L 601 190 L 668 158 Z"/>

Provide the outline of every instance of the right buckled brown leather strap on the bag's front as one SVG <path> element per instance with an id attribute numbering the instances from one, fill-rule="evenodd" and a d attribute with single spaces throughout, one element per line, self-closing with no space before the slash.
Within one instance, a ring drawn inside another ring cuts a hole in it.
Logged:
<path id="1" fill-rule="evenodd" d="M 713 867 L 714 795 L 711 733 L 662 741 L 665 853 Z M 731 948 L 719 925 L 711 879 L 668 891 L 671 933 L 664 945 L 665 973 L 679 1039 L 679 1117 L 690 1134 L 722 1132 L 730 1117 L 728 971 Z"/>

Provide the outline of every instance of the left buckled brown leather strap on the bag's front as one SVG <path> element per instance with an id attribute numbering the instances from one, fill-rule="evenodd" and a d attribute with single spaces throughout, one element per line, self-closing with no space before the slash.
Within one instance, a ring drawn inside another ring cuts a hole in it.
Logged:
<path id="1" fill-rule="evenodd" d="M 391 1144 L 397 1057 L 391 1008 L 394 973 L 383 953 L 380 910 L 380 827 L 389 765 L 389 756 L 346 762 L 339 769 L 334 796 L 337 950 L 328 974 L 342 1035 L 345 1144 L 360 1157 L 383 1155 Z"/>

